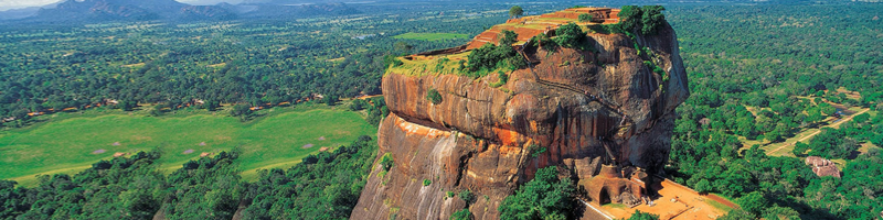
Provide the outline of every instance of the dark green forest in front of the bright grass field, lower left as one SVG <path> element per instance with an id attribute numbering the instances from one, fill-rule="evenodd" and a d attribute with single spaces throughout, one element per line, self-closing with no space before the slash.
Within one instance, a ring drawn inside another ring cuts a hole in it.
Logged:
<path id="1" fill-rule="evenodd" d="M 0 219 L 345 219 L 359 200 L 376 141 L 304 158 L 288 170 L 241 180 L 238 153 L 190 161 L 168 176 L 161 152 L 100 161 L 79 174 L 43 176 L 38 187 L 0 180 Z"/>

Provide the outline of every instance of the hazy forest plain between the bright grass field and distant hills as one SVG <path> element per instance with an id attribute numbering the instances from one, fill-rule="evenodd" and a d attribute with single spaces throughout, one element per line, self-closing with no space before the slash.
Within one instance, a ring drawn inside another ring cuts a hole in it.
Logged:
<path id="1" fill-rule="evenodd" d="M 504 21 L 503 12 L 477 6 L 430 11 L 400 6 L 383 8 L 386 13 L 301 20 L 4 26 L 0 117 L 17 119 L 2 125 L 20 127 L 29 112 L 108 103 L 125 110 L 138 103 L 214 109 L 376 95 L 392 61 L 387 56 L 469 40 L 392 36 L 471 36 Z"/>

